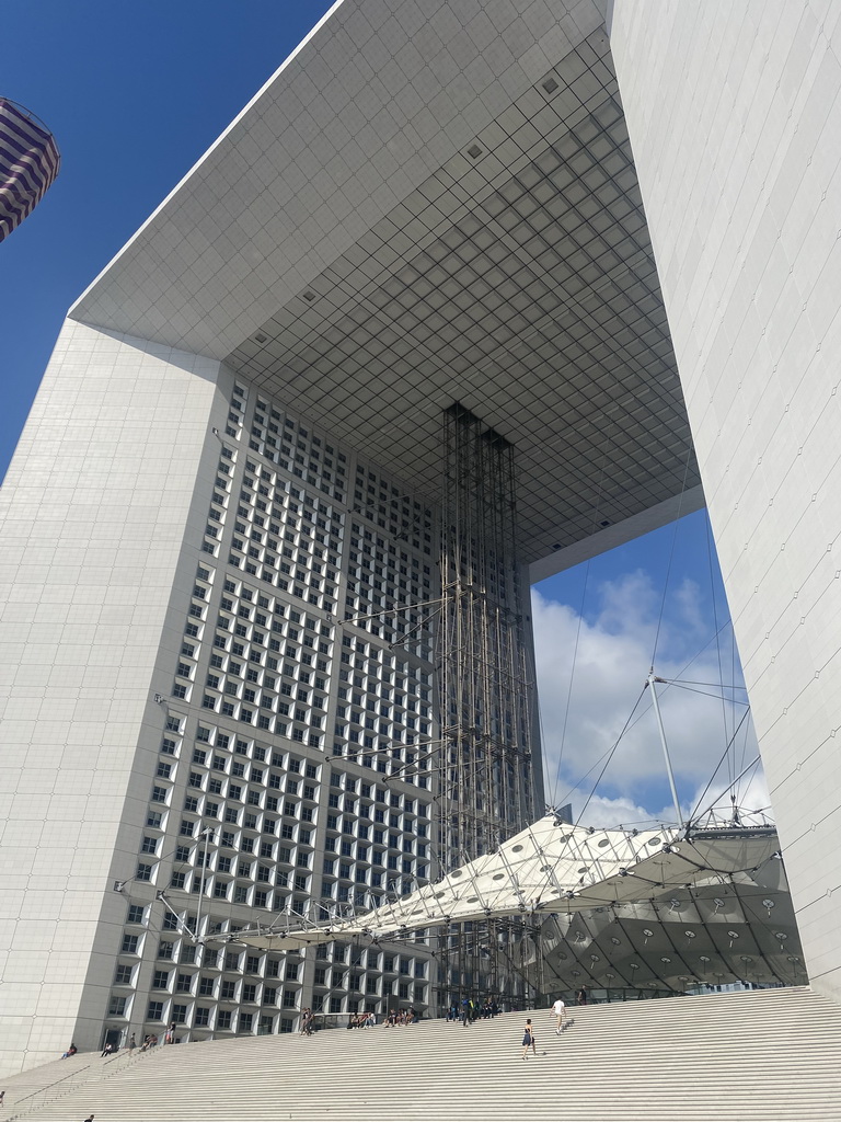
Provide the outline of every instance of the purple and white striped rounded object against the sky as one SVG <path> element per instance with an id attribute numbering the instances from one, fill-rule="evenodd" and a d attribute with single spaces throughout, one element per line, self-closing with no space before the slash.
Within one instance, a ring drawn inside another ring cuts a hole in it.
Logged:
<path id="1" fill-rule="evenodd" d="M 0 98 L 0 241 L 41 201 L 61 162 L 53 135 L 20 105 Z"/>

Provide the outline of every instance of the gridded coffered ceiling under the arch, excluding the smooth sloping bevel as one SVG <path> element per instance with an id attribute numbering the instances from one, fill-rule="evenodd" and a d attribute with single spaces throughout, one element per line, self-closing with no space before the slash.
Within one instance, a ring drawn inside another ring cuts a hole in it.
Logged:
<path id="1" fill-rule="evenodd" d="M 520 99 L 227 358 L 431 499 L 441 414 L 461 402 L 515 445 L 524 562 L 699 484 L 616 79 L 591 40 L 539 105 Z"/>

